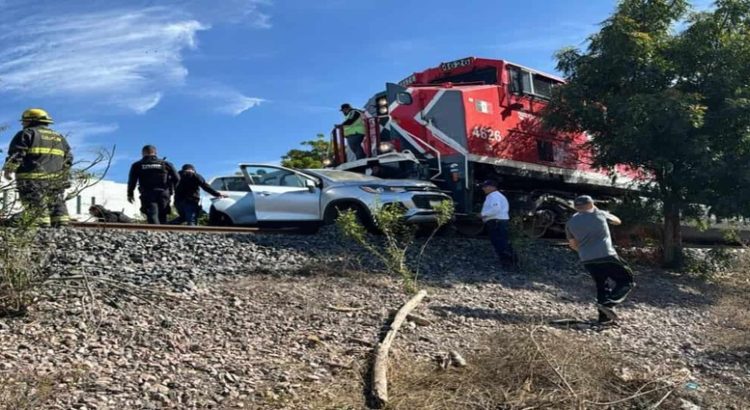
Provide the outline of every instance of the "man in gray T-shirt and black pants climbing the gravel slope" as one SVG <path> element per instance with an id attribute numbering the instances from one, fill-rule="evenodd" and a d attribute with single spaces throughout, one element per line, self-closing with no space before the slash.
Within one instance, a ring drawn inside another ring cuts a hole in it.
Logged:
<path id="1" fill-rule="evenodd" d="M 575 199 L 576 213 L 565 225 L 568 244 L 578 251 L 583 266 L 596 283 L 599 323 L 612 325 L 617 320 L 614 306 L 622 303 L 635 282 L 630 267 L 617 255 L 607 223 L 619 225 L 620 219 L 594 206 L 588 195 Z M 611 286 L 610 282 L 614 285 Z"/>

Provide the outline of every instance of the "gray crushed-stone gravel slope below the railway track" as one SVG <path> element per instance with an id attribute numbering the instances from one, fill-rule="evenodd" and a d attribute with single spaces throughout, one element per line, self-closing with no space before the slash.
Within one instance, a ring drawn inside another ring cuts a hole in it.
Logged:
<path id="1" fill-rule="evenodd" d="M 334 230 L 65 229 L 39 240 L 53 252 L 55 277 L 90 276 L 91 292 L 55 279 L 26 317 L 0 319 L 0 385 L 47 392 L 34 408 L 284 408 L 366 363 L 390 312 L 408 298 Z M 511 273 L 488 241 L 436 238 L 419 278 L 428 297 L 415 311 L 431 323 L 402 328 L 396 360 L 470 355 L 497 331 L 593 318 L 593 283 L 575 255 L 534 246 L 534 272 Z M 544 331 L 575 332 L 655 373 L 687 369 L 700 389 L 750 386 L 750 357 L 716 355 L 710 342 L 722 328 L 712 285 L 638 273 L 620 327 Z"/>

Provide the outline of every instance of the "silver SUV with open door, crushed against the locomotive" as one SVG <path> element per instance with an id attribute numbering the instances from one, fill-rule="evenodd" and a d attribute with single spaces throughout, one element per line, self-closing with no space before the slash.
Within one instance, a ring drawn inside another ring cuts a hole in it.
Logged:
<path id="1" fill-rule="evenodd" d="M 372 227 L 372 210 L 397 204 L 407 222 L 435 223 L 433 207 L 450 201 L 427 181 L 380 179 L 332 169 L 296 170 L 276 165 L 241 164 L 241 175 L 214 178 L 211 186 L 227 195 L 212 199 L 212 225 L 285 226 L 315 231 L 353 209 Z"/>

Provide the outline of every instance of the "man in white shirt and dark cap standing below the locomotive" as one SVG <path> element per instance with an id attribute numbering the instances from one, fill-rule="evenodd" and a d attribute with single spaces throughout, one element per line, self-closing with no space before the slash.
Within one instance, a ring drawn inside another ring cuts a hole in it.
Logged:
<path id="1" fill-rule="evenodd" d="M 500 262 L 505 266 L 513 264 L 513 248 L 508 239 L 508 225 L 510 205 L 505 195 L 497 190 L 497 182 L 486 180 L 482 182 L 482 190 L 487 195 L 482 206 L 482 221 L 487 228 L 492 247 L 495 248 Z"/>

